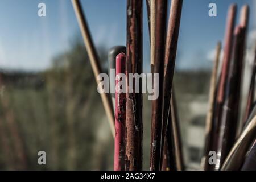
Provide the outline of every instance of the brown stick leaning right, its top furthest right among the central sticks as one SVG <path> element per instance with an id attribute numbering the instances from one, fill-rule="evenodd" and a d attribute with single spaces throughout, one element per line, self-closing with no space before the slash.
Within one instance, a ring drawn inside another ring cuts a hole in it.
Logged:
<path id="1" fill-rule="evenodd" d="M 166 44 L 165 44 L 166 48 L 165 48 L 165 55 L 164 55 L 164 102 L 163 102 L 163 125 L 162 125 L 162 137 L 161 137 L 162 138 L 161 150 L 163 150 L 164 138 L 167 135 L 167 123 L 168 123 L 168 115 L 170 111 L 172 80 L 174 77 L 174 67 L 175 67 L 176 52 L 177 52 L 177 42 L 179 38 L 182 5 L 183 5 L 182 0 L 172 0 L 170 16 L 168 20 L 168 30 L 167 30 L 167 38 L 166 38 Z M 170 127 L 171 127 L 171 138 L 172 138 L 172 141 L 174 141 L 174 128 L 173 126 L 170 126 Z M 169 149 L 175 150 L 172 146 L 174 146 L 174 143 L 169 146 Z M 169 153 L 175 154 L 175 151 L 169 151 Z M 175 156 L 172 155 L 170 160 L 175 161 Z"/>

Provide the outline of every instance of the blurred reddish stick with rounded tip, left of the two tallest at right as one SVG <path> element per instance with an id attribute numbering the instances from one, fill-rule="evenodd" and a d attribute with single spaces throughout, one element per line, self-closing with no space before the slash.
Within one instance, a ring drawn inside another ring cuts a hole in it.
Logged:
<path id="1" fill-rule="evenodd" d="M 218 83 L 217 89 L 217 99 L 216 99 L 216 107 L 214 108 L 214 118 L 213 118 L 213 144 L 210 150 L 217 150 L 217 143 L 220 132 L 220 118 L 222 106 L 224 104 L 224 93 L 225 93 L 225 85 L 226 80 L 228 78 L 228 69 L 231 60 L 232 54 L 232 45 L 233 45 L 233 32 L 234 32 L 234 23 L 236 20 L 236 11 L 237 5 L 232 4 L 229 7 L 228 16 L 226 20 L 226 34 L 225 34 L 225 46 L 224 46 L 224 59 L 222 63 L 220 81 Z M 214 165 L 212 165 L 212 169 Z"/>

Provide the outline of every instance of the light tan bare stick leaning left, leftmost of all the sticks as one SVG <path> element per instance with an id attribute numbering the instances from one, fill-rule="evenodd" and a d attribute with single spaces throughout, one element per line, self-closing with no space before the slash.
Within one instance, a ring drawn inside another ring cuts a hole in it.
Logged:
<path id="1" fill-rule="evenodd" d="M 79 0 L 72 0 L 73 8 L 76 13 L 76 18 L 77 21 L 79 22 L 80 30 L 82 33 L 82 38 L 84 39 L 84 44 L 86 51 L 88 52 L 90 64 L 92 65 L 93 73 L 95 80 L 97 84 L 100 83 L 100 80 L 97 79 L 98 75 L 102 73 L 102 68 L 100 66 L 100 61 L 97 56 L 96 48 L 94 47 L 92 38 L 90 36 L 89 28 L 86 23 L 85 15 L 82 12 L 82 7 L 79 2 Z M 110 98 L 110 94 L 108 93 L 102 93 L 101 95 L 101 100 L 104 105 L 104 109 L 106 111 L 106 115 L 109 119 L 109 125 L 110 125 L 110 130 L 112 131 L 113 137 L 115 135 L 114 131 L 114 110 L 113 110 L 113 105 L 112 101 Z"/>

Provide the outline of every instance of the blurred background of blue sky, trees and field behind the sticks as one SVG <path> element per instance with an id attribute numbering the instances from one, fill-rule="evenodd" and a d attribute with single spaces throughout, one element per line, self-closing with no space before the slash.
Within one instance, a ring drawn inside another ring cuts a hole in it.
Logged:
<path id="1" fill-rule="evenodd" d="M 46 17 L 38 16 L 41 2 L 46 3 Z M 208 15 L 211 2 L 217 5 L 217 17 Z M 200 167 L 214 51 L 218 40 L 223 43 L 226 13 L 233 2 L 238 13 L 245 3 L 250 6 L 242 90 L 246 98 L 256 1 L 183 2 L 174 88 L 187 169 Z M 81 3 L 107 72 L 109 49 L 126 44 L 126 1 Z M 1 0 L 0 22 L 0 169 L 112 170 L 113 137 L 71 1 Z M 145 1 L 143 72 L 150 72 Z M 146 95 L 143 102 L 143 169 L 149 169 L 151 109 Z M 41 150 L 46 151 L 47 165 L 38 165 Z"/>

